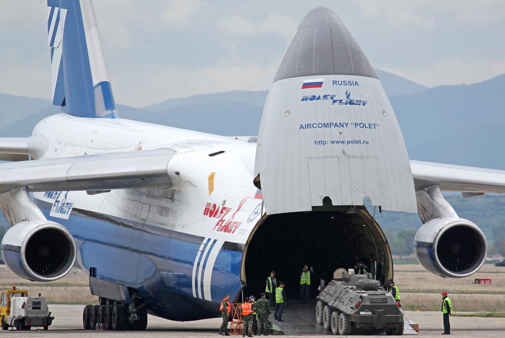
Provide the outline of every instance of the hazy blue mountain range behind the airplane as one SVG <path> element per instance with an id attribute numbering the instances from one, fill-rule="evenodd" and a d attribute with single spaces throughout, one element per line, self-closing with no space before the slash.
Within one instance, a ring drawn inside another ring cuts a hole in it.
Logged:
<path id="1" fill-rule="evenodd" d="M 411 159 L 505 169 L 505 75 L 471 85 L 427 88 L 377 71 Z M 142 108 L 118 105 L 123 118 L 227 136 L 256 135 L 267 91 L 231 91 L 176 98 Z M 0 94 L 0 137 L 28 136 L 58 112 L 48 100 Z"/>

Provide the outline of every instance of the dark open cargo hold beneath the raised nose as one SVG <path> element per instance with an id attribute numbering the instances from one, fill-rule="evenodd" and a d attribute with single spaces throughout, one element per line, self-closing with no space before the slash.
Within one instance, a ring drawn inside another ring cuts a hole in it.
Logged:
<path id="1" fill-rule="evenodd" d="M 242 257 L 243 296 L 260 296 L 266 278 L 276 271 L 277 283 L 286 284 L 286 298 L 299 299 L 300 272 L 314 267 L 310 299 L 320 280 L 326 283 L 337 268 L 352 268 L 357 261 L 376 260 L 376 279 L 382 285 L 393 277 L 392 257 L 386 237 L 365 207 L 352 212 L 331 209 L 264 216 L 252 231 Z M 241 300 L 241 293 L 235 301 Z"/>

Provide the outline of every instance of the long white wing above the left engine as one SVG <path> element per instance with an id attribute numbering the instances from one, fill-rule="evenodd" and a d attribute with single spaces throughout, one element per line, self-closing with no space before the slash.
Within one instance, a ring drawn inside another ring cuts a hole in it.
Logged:
<path id="1" fill-rule="evenodd" d="M 156 149 L 0 164 L 0 193 L 170 187 L 168 163 L 175 151 Z"/>

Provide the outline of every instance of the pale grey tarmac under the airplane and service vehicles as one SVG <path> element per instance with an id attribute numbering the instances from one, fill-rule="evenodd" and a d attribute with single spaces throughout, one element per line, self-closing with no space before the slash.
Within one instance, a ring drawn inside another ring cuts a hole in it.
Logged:
<path id="1" fill-rule="evenodd" d="M 50 305 L 55 320 L 49 330 L 32 329 L 30 331 L 0 330 L 1 337 L 218 337 L 221 318 L 198 321 L 176 322 L 154 316 L 148 316 L 145 331 L 95 331 L 82 329 L 82 305 Z M 286 312 L 289 309 L 286 309 Z M 406 311 L 410 321 L 419 323 L 418 337 L 439 336 L 443 332 L 440 312 Z M 456 337 L 505 337 L 505 318 L 451 317 L 451 333 Z M 331 333 L 331 332 L 330 332 Z M 311 335 L 285 335 L 285 337 L 312 337 Z M 372 337 L 373 335 L 366 335 Z M 355 335 L 355 337 L 359 337 Z"/>

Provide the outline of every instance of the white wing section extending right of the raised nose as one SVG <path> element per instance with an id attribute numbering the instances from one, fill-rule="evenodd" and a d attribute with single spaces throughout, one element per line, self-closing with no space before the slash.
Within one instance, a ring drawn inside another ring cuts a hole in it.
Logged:
<path id="1" fill-rule="evenodd" d="M 416 190 L 438 184 L 442 190 L 478 195 L 505 192 L 505 170 L 457 166 L 443 163 L 410 161 Z M 471 194 L 474 193 L 474 194 Z"/>

